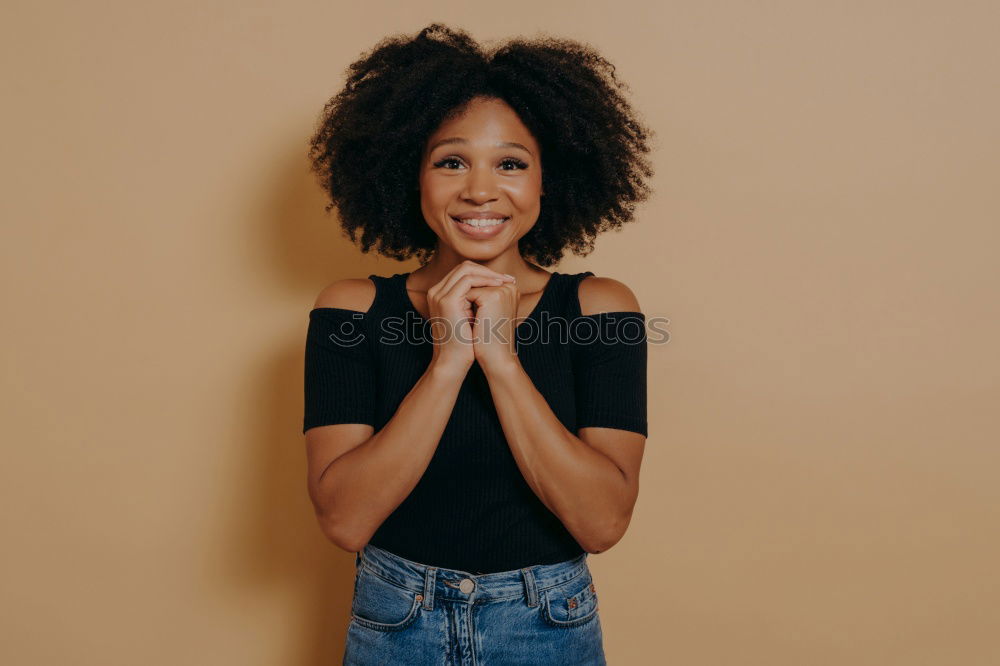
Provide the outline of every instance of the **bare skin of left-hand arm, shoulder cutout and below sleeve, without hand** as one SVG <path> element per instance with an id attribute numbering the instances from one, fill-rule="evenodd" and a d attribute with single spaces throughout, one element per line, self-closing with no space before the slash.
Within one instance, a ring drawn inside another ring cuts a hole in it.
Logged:
<path id="1" fill-rule="evenodd" d="M 320 294 L 315 307 L 367 311 L 373 300 L 370 280 L 341 280 Z M 363 423 L 306 431 L 309 497 L 330 541 L 361 550 L 406 499 L 437 448 L 464 374 L 432 361 L 378 432 Z"/>

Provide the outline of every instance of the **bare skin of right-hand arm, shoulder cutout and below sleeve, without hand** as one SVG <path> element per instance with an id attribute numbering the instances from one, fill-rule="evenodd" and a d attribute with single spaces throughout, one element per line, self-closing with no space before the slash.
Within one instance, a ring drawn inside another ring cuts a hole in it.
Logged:
<path id="1" fill-rule="evenodd" d="M 639 311 L 632 292 L 609 278 L 583 280 L 580 305 L 584 314 Z M 599 553 L 616 544 L 638 497 L 646 438 L 598 427 L 581 428 L 574 435 L 552 413 L 519 362 L 484 371 L 528 485 L 585 550 Z"/>

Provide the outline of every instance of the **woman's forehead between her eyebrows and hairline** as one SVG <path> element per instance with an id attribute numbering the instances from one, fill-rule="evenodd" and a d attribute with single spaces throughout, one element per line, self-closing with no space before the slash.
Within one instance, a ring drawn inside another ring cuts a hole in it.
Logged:
<path id="1" fill-rule="evenodd" d="M 454 118 L 428 138 L 428 150 L 439 145 L 478 145 L 481 147 L 523 146 L 536 153 L 538 144 L 517 113 L 503 100 L 476 98 Z M 510 145 L 517 144 L 517 145 Z"/>

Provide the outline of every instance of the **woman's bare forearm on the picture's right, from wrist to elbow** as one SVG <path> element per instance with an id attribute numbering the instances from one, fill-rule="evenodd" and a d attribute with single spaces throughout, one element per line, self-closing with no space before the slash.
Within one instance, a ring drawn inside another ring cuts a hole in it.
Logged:
<path id="1" fill-rule="evenodd" d="M 586 550 L 617 542 L 633 503 L 621 469 L 566 429 L 520 363 L 486 376 L 514 459 L 542 503 Z"/>

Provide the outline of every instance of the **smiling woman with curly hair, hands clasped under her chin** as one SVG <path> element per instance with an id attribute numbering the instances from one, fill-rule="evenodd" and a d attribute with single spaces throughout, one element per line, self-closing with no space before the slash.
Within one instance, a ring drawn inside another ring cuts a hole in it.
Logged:
<path id="1" fill-rule="evenodd" d="M 309 493 L 357 553 L 346 664 L 605 663 L 587 557 L 638 493 L 645 318 L 621 282 L 543 267 L 648 196 L 621 87 L 579 43 L 433 24 L 326 106 L 330 207 L 363 252 L 421 263 L 310 312 Z"/>

